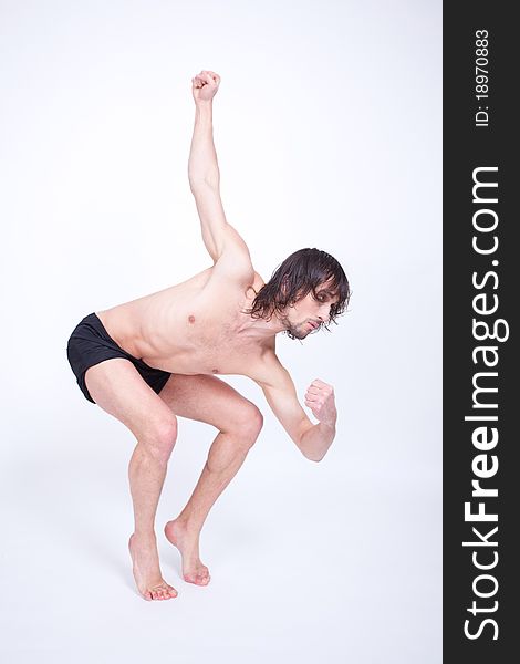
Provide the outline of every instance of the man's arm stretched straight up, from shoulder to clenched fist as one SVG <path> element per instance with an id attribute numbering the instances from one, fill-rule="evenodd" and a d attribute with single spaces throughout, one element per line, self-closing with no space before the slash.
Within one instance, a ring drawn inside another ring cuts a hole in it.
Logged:
<path id="1" fill-rule="evenodd" d="M 195 126 L 188 160 L 188 177 L 200 218 L 202 240 L 225 273 L 252 272 L 246 242 L 227 222 L 220 199 L 220 172 L 214 144 L 212 100 L 220 85 L 215 72 L 202 71 L 191 80 L 195 100 Z"/>

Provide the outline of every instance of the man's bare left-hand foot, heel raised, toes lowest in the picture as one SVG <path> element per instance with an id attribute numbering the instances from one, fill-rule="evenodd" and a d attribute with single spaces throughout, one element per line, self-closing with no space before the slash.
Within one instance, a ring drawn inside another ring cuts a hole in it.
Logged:
<path id="1" fill-rule="evenodd" d="M 145 600 L 169 600 L 177 596 L 175 588 L 166 583 L 160 574 L 159 557 L 154 540 L 144 540 L 133 535 L 128 549 L 134 563 L 134 579 Z"/>

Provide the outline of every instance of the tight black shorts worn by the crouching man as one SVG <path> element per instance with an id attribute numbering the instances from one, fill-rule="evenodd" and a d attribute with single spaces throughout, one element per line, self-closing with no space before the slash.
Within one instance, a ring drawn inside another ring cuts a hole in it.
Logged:
<path id="1" fill-rule="evenodd" d="M 95 313 L 86 315 L 73 330 L 66 344 L 66 356 L 76 376 L 77 384 L 85 397 L 95 404 L 85 385 L 85 371 L 104 360 L 112 357 L 124 357 L 129 360 L 139 372 L 144 381 L 157 394 L 163 390 L 166 381 L 171 375 L 162 369 L 148 366 L 143 360 L 138 360 L 124 351 L 112 339 Z"/>

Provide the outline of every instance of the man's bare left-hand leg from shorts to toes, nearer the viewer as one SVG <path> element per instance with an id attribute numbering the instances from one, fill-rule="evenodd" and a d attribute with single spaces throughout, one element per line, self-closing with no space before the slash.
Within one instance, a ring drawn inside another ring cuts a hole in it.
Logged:
<path id="1" fill-rule="evenodd" d="M 177 419 L 128 360 L 116 357 L 91 366 L 85 383 L 96 404 L 137 439 L 128 469 L 135 517 L 129 550 L 137 588 L 146 600 L 175 598 L 177 591 L 160 573 L 154 521 Z"/>

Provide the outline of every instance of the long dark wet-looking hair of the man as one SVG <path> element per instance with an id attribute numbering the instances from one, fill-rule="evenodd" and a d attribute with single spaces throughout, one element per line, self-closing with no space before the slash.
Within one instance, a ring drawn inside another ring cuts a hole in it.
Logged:
<path id="1" fill-rule="evenodd" d="M 331 305 L 330 313 L 330 322 L 336 323 L 335 319 L 349 305 L 349 280 L 337 260 L 320 249 L 300 249 L 285 258 L 258 291 L 248 313 L 269 321 L 273 313 L 281 313 L 311 291 L 315 297 L 316 289 L 324 282 L 329 282 L 331 292 L 339 298 L 337 303 Z"/>

